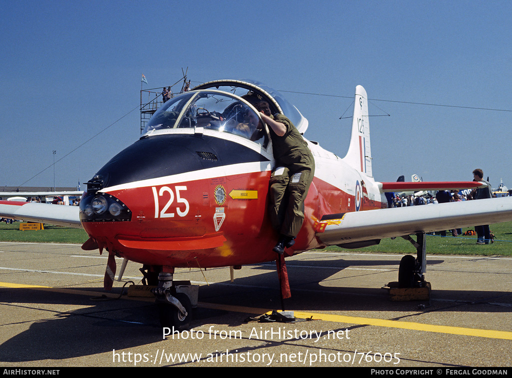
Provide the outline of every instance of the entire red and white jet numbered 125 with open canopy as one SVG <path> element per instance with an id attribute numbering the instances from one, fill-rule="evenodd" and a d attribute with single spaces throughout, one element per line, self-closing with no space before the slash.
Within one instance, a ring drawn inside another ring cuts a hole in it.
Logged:
<path id="1" fill-rule="evenodd" d="M 185 328 L 197 292 L 173 282 L 178 267 L 211 268 L 275 261 L 278 233 L 268 215 L 272 141 L 254 104 L 286 115 L 304 134 L 308 121 L 277 91 L 258 82 L 219 80 L 173 97 L 148 121 L 140 139 L 87 183 L 80 209 L 0 202 L 0 215 L 83 227 L 82 248 L 143 265 L 156 285 L 163 326 Z M 257 128 L 262 123 L 263 129 Z M 321 127 L 321 125 L 315 125 Z M 424 285 L 426 232 L 512 220 L 512 198 L 387 208 L 386 192 L 475 188 L 475 182 L 375 181 L 368 97 L 357 86 L 349 150 L 341 158 L 307 141 L 315 176 L 305 221 L 290 256 L 338 245 L 359 248 L 404 237 L 417 257 L 402 258 L 399 283 Z M 49 209 L 49 210 L 48 210 Z M 416 241 L 410 237 L 416 235 Z M 109 286 L 108 277 L 105 286 Z"/>

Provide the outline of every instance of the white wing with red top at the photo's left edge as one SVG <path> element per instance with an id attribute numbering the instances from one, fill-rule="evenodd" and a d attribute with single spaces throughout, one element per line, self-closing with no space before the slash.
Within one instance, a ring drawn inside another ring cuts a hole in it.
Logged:
<path id="1" fill-rule="evenodd" d="M 37 202 L 0 201 L 0 216 L 19 221 L 81 228 L 80 208 Z"/>

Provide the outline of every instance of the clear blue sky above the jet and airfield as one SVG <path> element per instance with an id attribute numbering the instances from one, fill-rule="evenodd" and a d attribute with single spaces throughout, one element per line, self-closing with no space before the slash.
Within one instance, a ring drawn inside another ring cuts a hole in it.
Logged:
<path id="1" fill-rule="evenodd" d="M 188 66 L 193 84 L 324 94 L 283 92 L 305 136 L 339 156 L 351 122 L 339 117 L 362 85 L 386 115 L 370 117 L 376 180 L 482 168 L 512 187 L 512 3 L 0 1 L 0 186 L 51 166 L 53 150 L 56 186 L 86 182 L 139 137 L 141 74 L 163 87 Z M 24 185 L 53 186 L 53 167 Z"/>

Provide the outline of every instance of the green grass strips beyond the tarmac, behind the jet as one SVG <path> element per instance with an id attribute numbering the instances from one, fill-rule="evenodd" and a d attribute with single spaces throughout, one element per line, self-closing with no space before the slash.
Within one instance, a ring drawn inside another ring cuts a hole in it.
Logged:
<path id="1" fill-rule="evenodd" d="M 462 229 L 466 231 L 468 228 Z M 429 254 L 463 254 L 485 256 L 512 255 L 512 222 L 490 225 L 490 230 L 496 236 L 496 241 L 489 245 L 477 245 L 476 236 L 452 237 L 447 232 L 446 237 L 426 235 L 426 250 Z M 0 241 L 2 242 L 39 242 L 39 243 L 76 243 L 82 244 L 88 239 L 85 231 L 78 228 L 45 225 L 44 230 L 19 231 L 19 223 L 0 224 Z M 376 246 L 359 249 L 342 249 L 327 247 L 326 250 L 386 252 L 386 253 L 416 253 L 415 248 L 406 240 L 398 237 L 394 240 L 383 239 Z"/>

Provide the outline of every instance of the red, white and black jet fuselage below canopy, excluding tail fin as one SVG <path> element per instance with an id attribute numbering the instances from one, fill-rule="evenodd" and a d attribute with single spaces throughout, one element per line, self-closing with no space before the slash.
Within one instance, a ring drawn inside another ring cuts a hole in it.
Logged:
<path id="1" fill-rule="evenodd" d="M 81 201 L 85 208 L 98 195 L 113 196 L 130 209 L 130 221 L 82 216 L 84 229 L 100 247 L 143 264 L 205 268 L 275 260 L 278 235 L 267 213 L 274 162 L 249 143 L 214 131 L 143 138 L 98 172 L 98 181 L 109 180 L 106 187 L 88 189 Z M 305 222 L 288 253 L 324 247 L 315 234 L 329 223 L 325 214 L 382 207 L 371 178 L 309 146 L 316 173 Z"/>

